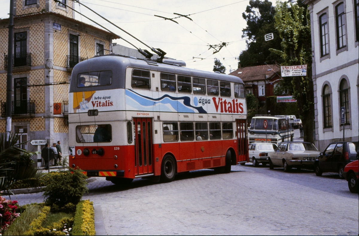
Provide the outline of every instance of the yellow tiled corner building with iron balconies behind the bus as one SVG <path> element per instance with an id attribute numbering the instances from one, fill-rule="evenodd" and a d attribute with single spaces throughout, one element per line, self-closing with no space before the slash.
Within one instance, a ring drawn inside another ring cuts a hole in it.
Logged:
<path id="1" fill-rule="evenodd" d="M 21 141 L 46 139 L 51 145 L 60 140 L 67 155 L 72 68 L 96 54 L 108 54 L 117 36 L 75 20 L 70 8 L 53 0 L 14 2 L 12 132 L 22 134 Z M 8 25 L 9 19 L 0 20 L 1 133 L 6 123 Z M 30 143 L 23 148 L 37 151 Z"/>

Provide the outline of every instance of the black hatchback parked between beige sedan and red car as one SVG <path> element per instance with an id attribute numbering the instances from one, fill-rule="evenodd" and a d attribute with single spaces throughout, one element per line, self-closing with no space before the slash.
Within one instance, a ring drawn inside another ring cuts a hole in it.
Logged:
<path id="1" fill-rule="evenodd" d="M 314 162 L 314 170 L 317 176 L 321 176 L 323 172 L 337 172 L 339 178 L 344 179 L 344 167 L 354 160 L 356 160 L 354 143 L 330 143 Z"/>

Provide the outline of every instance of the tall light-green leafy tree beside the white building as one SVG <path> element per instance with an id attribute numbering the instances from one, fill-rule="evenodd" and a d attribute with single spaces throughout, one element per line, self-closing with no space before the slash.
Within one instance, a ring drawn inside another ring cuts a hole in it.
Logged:
<path id="1" fill-rule="evenodd" d="M 271 48 L 271 52 L 281 56 L 282 66 L 307 64 L 307 76 L 295 76 L 291 82 L 292 95 L 297 99 L 303 122 L 304 141 L 313 143 L 314 88 L 309 12 L 301 1 L 297 4 L 277 1 L 275 10 L 275 28 L 282 41 L 281 50 Z"/>

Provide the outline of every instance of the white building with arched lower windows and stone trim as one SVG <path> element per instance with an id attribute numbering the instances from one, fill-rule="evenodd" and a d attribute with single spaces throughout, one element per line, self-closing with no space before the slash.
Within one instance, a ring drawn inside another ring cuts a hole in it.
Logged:
<path id="1" fill-rule="evenodd" d="M 311 15 L 316 146 L 358 142 L 359 0 L 304 0 Z M 341 107 L 345 107 L 341 124 Z"/>

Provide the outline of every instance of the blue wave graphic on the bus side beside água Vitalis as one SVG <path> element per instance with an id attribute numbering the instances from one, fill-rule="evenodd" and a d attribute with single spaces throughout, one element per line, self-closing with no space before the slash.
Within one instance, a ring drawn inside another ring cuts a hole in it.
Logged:
<path id="1" fill-rule="evenodd" d="M 178 112 L 194 113 L 194 110 L 189 107 L 196 109 L 199 113 L 207 114 L 207 111 L 203 107 L 195 107 L 191 105 L 191 98 L 187 96 L 183 97 L 172 97 L 168 94 L 163 95 L 159 98 L 152 98 L 143 96 L 139 93 L 136 93 L 132 90 L 126 90 L 126 95 L 139 102 L 142 106 L 155 106 L 157 104 L 169 104 L 173 107 L 174 110 Z M 178 102 L 178 100 L 183 100 L 183 104 Z M 161 109 L 162 110 L 162 109 Z"/>

